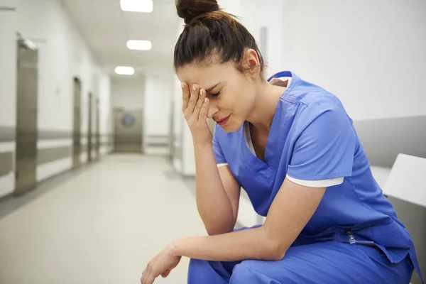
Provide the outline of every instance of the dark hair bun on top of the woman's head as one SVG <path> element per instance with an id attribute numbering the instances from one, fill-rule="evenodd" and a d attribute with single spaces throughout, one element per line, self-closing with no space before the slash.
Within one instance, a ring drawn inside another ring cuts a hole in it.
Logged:
<path id="1" fill-rule="evenodd" d="M 188 24 L 203 13 L 219 11 L 219 5 L 216 0 L 178 0 L 176 9 L 178 16 Z"/>

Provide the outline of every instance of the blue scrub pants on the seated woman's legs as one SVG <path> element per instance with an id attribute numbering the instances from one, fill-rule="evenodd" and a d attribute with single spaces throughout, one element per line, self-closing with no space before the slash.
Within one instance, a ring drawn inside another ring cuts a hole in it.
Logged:
<path id="1" fill-rule="evenodd" d="M 392 264 L 373 246 L 325 241 L 292 246 L 281 261 L 191 259 L 188 283 L 408 284 L 413 269 L 410 258 Z"/>

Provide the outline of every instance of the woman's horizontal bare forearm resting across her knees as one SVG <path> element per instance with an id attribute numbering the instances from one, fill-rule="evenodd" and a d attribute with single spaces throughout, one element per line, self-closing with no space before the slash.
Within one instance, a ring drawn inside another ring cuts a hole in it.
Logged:
<path id="1" fill-rule="evenodd" d="M 215 236 L 197 236 L 174 242 L 175 255 L 209 261 L 242 261 L 281 259 L 284 251 L 268 239 L 263 227 L 233 231 Z"/>

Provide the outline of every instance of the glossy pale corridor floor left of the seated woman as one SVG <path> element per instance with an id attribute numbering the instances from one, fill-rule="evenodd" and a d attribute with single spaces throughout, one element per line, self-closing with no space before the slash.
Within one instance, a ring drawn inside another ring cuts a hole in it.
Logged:
<path id="1" fill-rule="evenodd" d="M 139 283 L 168 242 L 204 234 L 194 195 L 170 172 L 162 158 L 109 155 L 11 210 L 0 283 Z M 186 283 L 187 264 L 155 283 Z"/>

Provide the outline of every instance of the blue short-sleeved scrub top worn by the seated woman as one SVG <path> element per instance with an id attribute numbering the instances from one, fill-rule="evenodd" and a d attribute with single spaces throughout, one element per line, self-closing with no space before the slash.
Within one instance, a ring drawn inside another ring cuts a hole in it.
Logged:
<path id="1" fill-rule="evenodd" d="M 409 253 L 421 274 L 410 234 L 374 180 L 342 102 L 293 72 L 273 77 L 291 77 L 291 81 L 275 110 L 264 160 L 249 148 L 244 124 L 232 133 L 217 125 L 213 138 L 217 164 L 229 166 L 253 208 L 265 217 L 286 177 L 300 184 L 334 180 L 295 242 L 336 240 L 374 245 L 392 263 Z"/>

